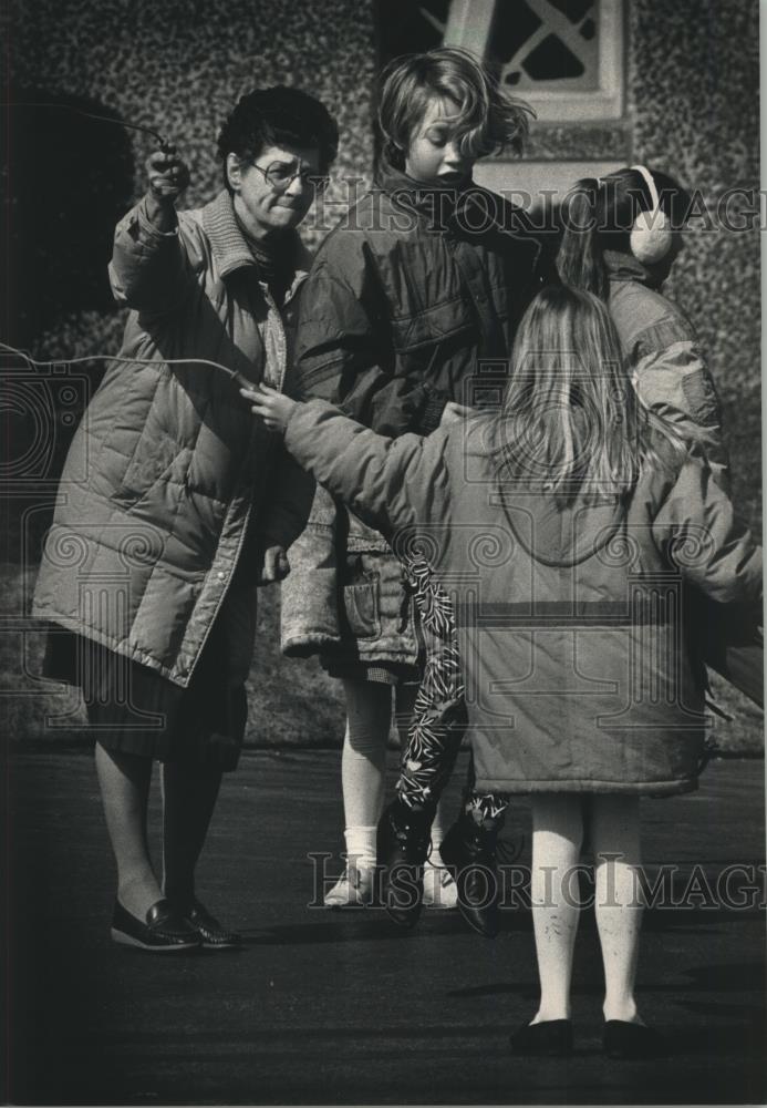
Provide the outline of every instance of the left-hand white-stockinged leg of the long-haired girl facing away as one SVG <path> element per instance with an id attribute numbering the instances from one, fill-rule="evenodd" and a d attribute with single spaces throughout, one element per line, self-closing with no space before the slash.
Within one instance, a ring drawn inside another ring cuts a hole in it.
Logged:
<path id="1" fill-rule="evenodd" d="M 580 907 L 573 868 L 583 833 L 582 799 L 533 794 L 530 896 L 540 977 L 533 1024 L 570 1018 L 572 955 Z"/>

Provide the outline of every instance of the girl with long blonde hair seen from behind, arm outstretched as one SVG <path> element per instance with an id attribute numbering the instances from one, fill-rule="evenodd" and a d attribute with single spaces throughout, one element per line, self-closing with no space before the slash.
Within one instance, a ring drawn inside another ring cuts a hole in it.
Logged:
<path id="1" fill-rule="evenodd" d="M 449 582 L 477 787 L 532 797 L 540 1003 L 512 1049 L 573 1048 L 570 895 L 588 821 L 612 1057 L 664 1049 L 634 998 L 640 798 L 697 787 L 704 687 L 684 585 L 757 605 L 761 551 L 727 492 L 623 368 L 607 307 L 543 289 L 517 338 L 502 410 L 384 438 L 312 401 L 247 398 L 333 495 L 391 537 L 431 545 Z"/>

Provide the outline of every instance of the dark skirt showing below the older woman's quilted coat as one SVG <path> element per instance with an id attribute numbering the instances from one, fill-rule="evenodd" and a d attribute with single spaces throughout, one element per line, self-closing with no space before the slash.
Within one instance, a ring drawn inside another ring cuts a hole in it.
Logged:
<path id="1" fill-rule="evenodd" d="M 245 737 L 243 656 L 252 653 L 253 632 L 255 598 L 248 591 L 238 605 L 224 605 L 183 688 L 83 635 L 51 626 L 42 676 L 80 686 L 89 731 L 107 750 L 232 770 Z"/>

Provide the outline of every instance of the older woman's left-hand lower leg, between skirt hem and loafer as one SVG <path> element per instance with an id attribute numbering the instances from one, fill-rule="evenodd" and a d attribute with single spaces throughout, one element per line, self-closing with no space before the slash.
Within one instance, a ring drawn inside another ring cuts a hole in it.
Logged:
<path id="1" fill-rule="evenodd" d="M 117 863 L 117 899 L 142 922 L 162 896 L 146 839 L 152 759 L 96 743 L 96 773 Z"/>

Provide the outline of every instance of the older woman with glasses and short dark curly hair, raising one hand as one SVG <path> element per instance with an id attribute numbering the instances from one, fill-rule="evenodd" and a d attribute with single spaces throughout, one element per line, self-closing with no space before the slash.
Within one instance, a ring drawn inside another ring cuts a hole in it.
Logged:
<path id="1" fill-rule="evenodd" d="M 117 863 L 112 937 L 153 952 L 239 944 L 195 868 L 246 724 L 256 583 L 286 572 L 312 485 L 238 384 L 284 388 L 309 258 L 296 232 L 338 129 L 296 89 L 242 96 L 221 129 L 225 188 L 176 212 L 173 147 L 118 224 L 110 276 L 131 311 L 73 441 L 34 614 L 44 674 L 83 688 Z M 146 841 L 163 766 L 163 886 Z"/>

